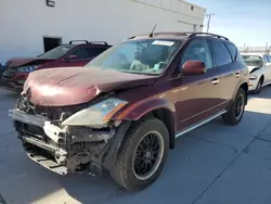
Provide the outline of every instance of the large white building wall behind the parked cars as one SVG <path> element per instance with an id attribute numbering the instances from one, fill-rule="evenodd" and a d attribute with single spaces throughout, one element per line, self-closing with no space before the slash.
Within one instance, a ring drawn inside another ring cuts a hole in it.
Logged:
<path id="1" fill-rule="evenodd" d="M 204 16 L 182 0 L 0 0 L 0 63 L 44 52 L 47 38 L 114 44 L 155 24 L 156 31 L 201 31 Z"/>

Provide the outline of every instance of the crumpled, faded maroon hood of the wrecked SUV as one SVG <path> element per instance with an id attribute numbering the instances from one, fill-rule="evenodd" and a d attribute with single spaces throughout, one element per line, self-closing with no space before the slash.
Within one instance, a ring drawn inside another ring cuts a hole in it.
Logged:
<path id="1" fill-rule="evenodd" d="M 64 67 L 30 73 L 24 93 L 37 105 L 66 106 L 89 102 L 102 92 L 154 82 L 155 76 L 91 67 Z"/>

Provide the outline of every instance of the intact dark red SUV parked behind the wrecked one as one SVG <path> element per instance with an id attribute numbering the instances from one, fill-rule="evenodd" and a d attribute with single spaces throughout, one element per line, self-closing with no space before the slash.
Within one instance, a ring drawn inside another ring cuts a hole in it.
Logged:
<path id="1" fill-rule="evenodd" d="M 74 43 L 77 41 L 85 43 Z M 34 59 L 12 59 L 7 63 L 9 67 L 2 74 L 1 84 L 7 89 L 22 91 L 29 73 L 52 67 L 85 66 L 109 47 L 104 41 L 73 40 Z"/>

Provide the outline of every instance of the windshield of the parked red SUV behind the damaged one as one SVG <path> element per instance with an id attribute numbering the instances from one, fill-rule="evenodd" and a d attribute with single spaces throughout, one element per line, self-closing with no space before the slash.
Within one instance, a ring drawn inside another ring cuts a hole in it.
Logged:
<path id="1" fill-rule="evenodd" d="M 60 59 L 64 54 L 66 54 L 72 48 L 74 48 L 75 44 L 65 44 L 65 46 L 59 46 L 41 55 L 38 56 L 38 59 L 49 59 L 49 60 L 55 60 Z"/>

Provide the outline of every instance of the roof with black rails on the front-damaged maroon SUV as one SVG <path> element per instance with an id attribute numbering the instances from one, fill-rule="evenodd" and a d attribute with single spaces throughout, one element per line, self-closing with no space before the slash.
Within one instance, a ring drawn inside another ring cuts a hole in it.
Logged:
<path id="1" fill-rule="evenodd" d="M 154 34 L 145 34 L 145 35 L 139 35 L 139 36 L 132 36 L 128 39 L 146 39 L 146 38 L 154 38 L 154 39 L 189 39 L 189 38 L 195 38 L 195 37 L 208 37 L 208 38 L 218 38 L 222 40 L 230 41 L 227 37 L 219 36 L 216 34 L 209 34 L 209 33 L 177 33 L 177 31 L 168 31 L 168 33 L 154 33 Z"/>

